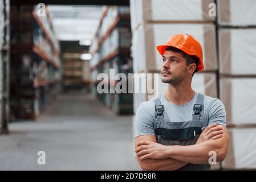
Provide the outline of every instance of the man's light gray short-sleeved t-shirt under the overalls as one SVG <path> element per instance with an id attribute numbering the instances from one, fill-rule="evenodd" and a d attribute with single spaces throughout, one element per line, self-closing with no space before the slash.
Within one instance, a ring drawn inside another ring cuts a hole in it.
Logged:
<path id="1" fill-rule="evenodd" d="M 170 122 L 184 122 L 192 120 L 193 106 L 196 104 L 198 93 L 195 92 L 191 101 L 184 105 L 174 105 L 166 100 L 164 94 L 160 95 L 161 104 L 164 105 Z M 204 97 L 204 114 L 208 125 L 218 123 L 226 126 L 225 106 L 218 98 Z M 140 135 L 155 135 L 155 103 L 149 100 L 140 104 L 136 112 L 135 138 Z M 203 128 L 204 130 L 204 128 Z"/>

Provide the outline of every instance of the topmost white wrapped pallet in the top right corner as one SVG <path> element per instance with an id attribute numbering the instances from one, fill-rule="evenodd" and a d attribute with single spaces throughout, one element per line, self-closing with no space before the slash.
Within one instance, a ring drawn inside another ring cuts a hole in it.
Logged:
<path id="1" fill-rule="evenodd" d="M 227 26 L 255 26 L 255 0 L 218 0 L 218 23 Z"/>

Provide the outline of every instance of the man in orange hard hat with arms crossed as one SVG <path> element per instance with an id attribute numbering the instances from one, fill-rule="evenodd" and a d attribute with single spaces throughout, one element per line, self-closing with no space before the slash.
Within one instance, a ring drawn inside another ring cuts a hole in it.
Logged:
<path id="1" fill-rule="evenodd" d="M 202 47 L 193 36 L 178 34 L 157 50 L 168 89 L 137 110 L 135 152 L 141 169 L 210 170 L 210 162 L 225 159 L 229 135 L 222 102 L 191 87 L 194 72 L 204 70 Z"/>

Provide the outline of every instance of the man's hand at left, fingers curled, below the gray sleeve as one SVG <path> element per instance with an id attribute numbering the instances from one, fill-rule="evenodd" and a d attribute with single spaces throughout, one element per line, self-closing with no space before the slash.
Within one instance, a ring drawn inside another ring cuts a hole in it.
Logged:
<path id="1" fill-rule="evenodd" d="M 140 160 L 144 159 L 166 159 L 168 147 L 156 142 L 141 141 L 137 143 L 135 152 Z"/>

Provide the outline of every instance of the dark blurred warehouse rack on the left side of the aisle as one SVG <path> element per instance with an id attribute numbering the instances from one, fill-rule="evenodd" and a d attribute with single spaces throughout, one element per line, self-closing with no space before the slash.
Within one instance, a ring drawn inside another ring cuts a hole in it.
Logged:
<path id="1" fill-rule="evenodd" d="M 52 43 L 44 24 L 34 13 L 34 6 L 17 5 L 11 8 L 11 116 L 13 120 L 35 120 L 60 88 L 60 80 L 54 79 L 55 72 L 60 70 L 60 64 L 35 44 L 35 36 L 42 36 L 54 50 L 56 57 L 60 52 Z M 47 12 L 47 18 L 48 16 Z M 48 69 L 45 80 L 35 80 L 36 74 L 39 74 L 36 72 L 39 64 L 44 64 Z"/>

